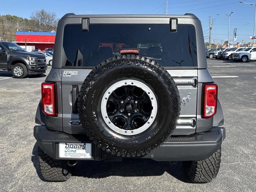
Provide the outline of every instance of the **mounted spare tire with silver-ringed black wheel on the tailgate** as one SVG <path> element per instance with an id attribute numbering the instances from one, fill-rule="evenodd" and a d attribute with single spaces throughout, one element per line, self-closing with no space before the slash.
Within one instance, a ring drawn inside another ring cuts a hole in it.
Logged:
<path id="1" fill-rule="evenodd" d="M 154 60 L 122 55 L 102 62 L 84 80 L 80 122 L 96 146 L 136 157 L 160 146 L 176 128 L 178 88 Z"/>

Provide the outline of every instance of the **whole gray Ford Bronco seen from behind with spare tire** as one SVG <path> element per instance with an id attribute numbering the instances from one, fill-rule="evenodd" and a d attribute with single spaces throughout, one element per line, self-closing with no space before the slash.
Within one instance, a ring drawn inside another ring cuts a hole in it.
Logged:
<path id="1" fill-rule="evenodd" d="M 195 183 L 220 168 L 224 118 L 200 20 L 66 14 L 42 83 L 34 137 L 46 181 L 78 160 L 182 161 Z"/>

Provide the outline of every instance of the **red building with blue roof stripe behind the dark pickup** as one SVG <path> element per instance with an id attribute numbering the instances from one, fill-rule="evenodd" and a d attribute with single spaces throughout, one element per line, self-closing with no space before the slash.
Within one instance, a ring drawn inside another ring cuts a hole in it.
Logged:
<path id="1" fill-rule="evenodd" d="M 43 51 L 45 48 L 54 48 L 56 32 L 16 32 L 16 44 L 35 46 Z"/>

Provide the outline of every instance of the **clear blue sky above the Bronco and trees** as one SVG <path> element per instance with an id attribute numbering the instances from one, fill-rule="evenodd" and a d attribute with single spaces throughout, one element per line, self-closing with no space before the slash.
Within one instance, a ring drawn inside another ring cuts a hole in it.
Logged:
<path id="1" fill-rule="evenodd" d="M 256 0 L 243 0 L 256 3 Z M 30 18 L 32 12 L 45 9 L 55 12 L 58 18 L 64 14 L 166 14 L 166 0 L 0 0 L 0 15 L 16 15 Z M 241 4 L 238 0 L 168 0 L 168 14 L 193 13 L 202 22 L 208 42 L 209 16 L 214 18 L 212 40 L 220 42 L 228 38 L 228 17 L 216 14 L 230 14 L 230 41 L 237 28 L 237 41 L 250 42 L 253 35 L 254 6 Z M 236 43 L 234 42 L 234 43 Z"/>

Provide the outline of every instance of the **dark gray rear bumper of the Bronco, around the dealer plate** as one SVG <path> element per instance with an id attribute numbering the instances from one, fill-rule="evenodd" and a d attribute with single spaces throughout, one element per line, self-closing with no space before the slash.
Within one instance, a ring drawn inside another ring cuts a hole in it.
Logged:
<path id="1" fill-rule="evenodd" d="M 34 137 L 38 146 L 54 159 L 65 159 L 59 158 L 58 155 L 58 144 L 60 142 L 91 143 L 85 135 L 70 135 L 51 131 L 42 125 L 34 126 Z M 149 158 L 156 161 L 204 160 L 220 148 L 225 137 L 224 127 L 212 127 L 210 132 L 196 133 L 189 136 L 170 137 L 162 146 L 140 158 Z M 118 157 L 102 151 L 92 143 L 92 158 L 87 160 L 104 160 L 106 158 L 116 159 Z"/>

